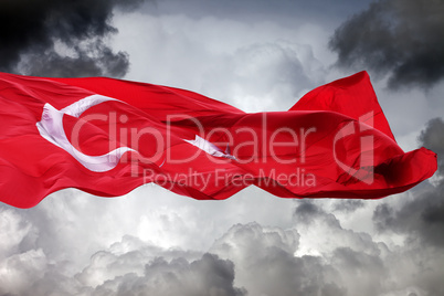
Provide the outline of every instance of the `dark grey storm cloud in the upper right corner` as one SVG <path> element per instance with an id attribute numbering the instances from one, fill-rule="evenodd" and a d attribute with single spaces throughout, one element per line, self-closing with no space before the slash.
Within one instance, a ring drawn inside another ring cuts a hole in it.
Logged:
<path id="1" fill-rule="evenodd" d="M 444 77 L 444 1 L 380 0 L 337 29 L 342 67 L 389 74 L 389 86 L 431 86 Z"/>

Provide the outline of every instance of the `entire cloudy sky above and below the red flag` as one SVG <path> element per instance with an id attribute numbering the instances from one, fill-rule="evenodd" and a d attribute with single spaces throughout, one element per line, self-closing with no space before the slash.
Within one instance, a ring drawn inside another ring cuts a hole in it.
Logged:
<path id="1" fill-rule="evenodd" d="M 444 154 L 442 0 L 3 0 L 0 71 L 182 87 L 285 110 L 367 70 L 404 150 Z M 377 201 L 147 184 L 0 204 L 0 295 L 444 294 L 444 161 Z"/>

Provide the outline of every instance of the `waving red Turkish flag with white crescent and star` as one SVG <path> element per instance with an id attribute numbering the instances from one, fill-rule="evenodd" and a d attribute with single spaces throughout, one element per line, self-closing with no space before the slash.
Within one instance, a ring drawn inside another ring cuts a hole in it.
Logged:
<path id="1" fill-rule="evenodd" d="M 374 199 L 436 170 L 434 152 L 398 146 L 366 72 L 255 114 L 167 86 L 0 73 L 0 200 L 18 208 L 64 188 L 116 197 L 148 182 L 194 199 L 251 184 Z"/>

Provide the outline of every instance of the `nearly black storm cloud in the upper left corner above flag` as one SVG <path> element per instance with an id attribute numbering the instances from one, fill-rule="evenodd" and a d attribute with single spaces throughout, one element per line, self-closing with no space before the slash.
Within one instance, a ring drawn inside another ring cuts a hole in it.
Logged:
<path id="1" fill-rule="evenodd" d="M 123 76 L 129 62 L 104 39 L 113 10 L 144 0 L 2 0 L 0 71 L 45 76 Z M 57 47 L 59 46 L 59 47 Z"/>

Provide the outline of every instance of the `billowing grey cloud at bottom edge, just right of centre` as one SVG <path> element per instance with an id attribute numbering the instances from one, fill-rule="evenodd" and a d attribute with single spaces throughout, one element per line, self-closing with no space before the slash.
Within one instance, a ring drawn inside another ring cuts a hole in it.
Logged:
<path id="1" fill-rule="evenodd" d="M 298 240 L 296 230 L 237 224 L 211 252 L 234 262 L 235 283 L 250 295 L 345 295 L 337 271 L 321 257 L 294 255 Z"/>

